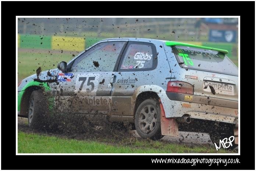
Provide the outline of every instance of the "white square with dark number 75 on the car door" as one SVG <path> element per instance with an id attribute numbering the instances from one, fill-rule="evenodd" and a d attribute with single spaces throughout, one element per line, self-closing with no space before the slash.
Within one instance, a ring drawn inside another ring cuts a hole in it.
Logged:
<path id="1" fill-rule="evenodd" d="M 83 92 L 89 93 L 90 95 L 96 95 L 98 83 L 98 74 L 78 74 L 75 83 L 75 92 Z"/>

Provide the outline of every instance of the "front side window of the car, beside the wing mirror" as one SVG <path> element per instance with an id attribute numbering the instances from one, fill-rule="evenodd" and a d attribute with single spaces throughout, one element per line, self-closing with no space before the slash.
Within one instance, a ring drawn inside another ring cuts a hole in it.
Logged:
<path id="1" fill-rule="evenodd" d="M 72 72 L 114 71 L 125 42 L 102 42 L 81 54 L 71 67 Z"/>

